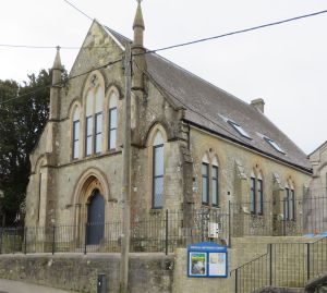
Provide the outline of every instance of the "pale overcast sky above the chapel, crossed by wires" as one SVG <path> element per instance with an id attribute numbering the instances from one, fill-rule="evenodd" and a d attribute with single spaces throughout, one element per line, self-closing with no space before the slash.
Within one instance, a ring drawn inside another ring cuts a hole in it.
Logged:
<path id="1" fill-rule="evenodd" d="M 90 21 L 63 0 L 1 1 L 0 44 L 81 46 Z M 134 0 L 71 0 L 85 13 L 132 37 Z M 326 0 L 144 0 L 150 49 L 327 9 Z M 24 81 L 51 66 L 55 49 L 0 47 L 0 80 Z M 68 70 L 77 50 L 62 50 Z M 306 154 L 327 139 L 327 13 L 189 47 L 164 57 L 250 102 Z"/>

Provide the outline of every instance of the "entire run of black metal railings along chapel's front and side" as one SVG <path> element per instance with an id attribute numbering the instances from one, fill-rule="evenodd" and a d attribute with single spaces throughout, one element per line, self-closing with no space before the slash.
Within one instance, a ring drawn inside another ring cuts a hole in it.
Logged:
<path id="1" fill-rule="evenodd" d="M 251 203 L 229 203 L 226 209 L 159 210 L 131 222 L 132 252 L 173 252 L 189 243 L 235 236 L 303 235 L 327 231 L 327 197 L 263 202 L 261 213 Z M 227 210 L 227 212 L 226 212 Z M 0 253 L 120 252 L 122 222 L 4 228 Z"/>

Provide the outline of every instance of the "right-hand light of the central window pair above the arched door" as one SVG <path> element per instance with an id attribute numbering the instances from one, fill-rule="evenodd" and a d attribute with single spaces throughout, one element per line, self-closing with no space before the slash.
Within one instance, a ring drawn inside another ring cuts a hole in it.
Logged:
<path id="1" fill-rule="evenodd" d="M 94 151 L 95 154 L 101 152 L 102 146 L 102 102 L 104 93 L 100 87 L 96 91 L 95 102 L 95 137 L 94 137 Z"/>

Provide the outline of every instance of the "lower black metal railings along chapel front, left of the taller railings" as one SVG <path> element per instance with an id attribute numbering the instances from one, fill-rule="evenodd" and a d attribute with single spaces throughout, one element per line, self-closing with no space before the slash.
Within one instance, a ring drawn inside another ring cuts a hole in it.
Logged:
<path id="1" fill-rule="evenodd" d="M 173 252 L 201 241 L 228 242 L 230 217 L 218 210 L 164 211 L 131 222 L 131 252 Z M 187 222 L 187 224 L 186 224 Z M 122 222 L 0 230 L 0 253 L 118 253 Z"/>

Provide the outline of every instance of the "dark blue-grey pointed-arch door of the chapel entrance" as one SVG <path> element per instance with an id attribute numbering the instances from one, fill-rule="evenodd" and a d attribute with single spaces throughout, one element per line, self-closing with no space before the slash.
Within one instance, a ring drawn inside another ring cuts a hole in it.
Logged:
<path id="1" fill-rule="evenodd" d="M 105 199 L 98 190 L 89 198 L 87 207 L 87 245 L 99 244 L 105 233 Z"/>

